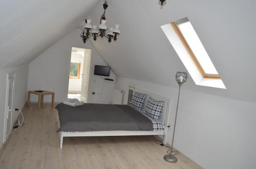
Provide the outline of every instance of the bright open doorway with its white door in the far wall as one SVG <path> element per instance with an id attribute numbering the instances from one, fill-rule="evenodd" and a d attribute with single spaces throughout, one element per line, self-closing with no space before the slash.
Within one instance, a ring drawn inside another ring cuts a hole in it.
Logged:
<path id="1" fill-rule="evenodd" d="M 91 54 L 91 49 L 72 47 L 68 98 L 88 102 Z"/>

